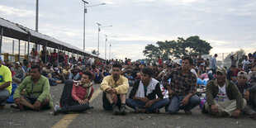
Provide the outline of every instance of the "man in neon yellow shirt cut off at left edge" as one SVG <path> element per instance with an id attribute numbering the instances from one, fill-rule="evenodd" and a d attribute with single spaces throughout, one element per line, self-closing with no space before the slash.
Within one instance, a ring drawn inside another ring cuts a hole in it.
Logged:
<path id="1" fill-rule="evenodd" d="M 7 99 L 12 92 L 12 73 L 10 69 L 2 64 L 0 56 L 0 109 L 5 107 Z"/>

